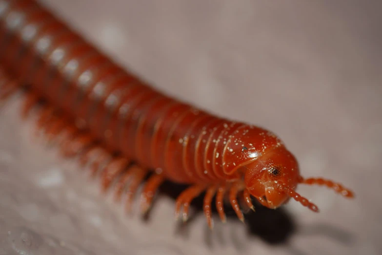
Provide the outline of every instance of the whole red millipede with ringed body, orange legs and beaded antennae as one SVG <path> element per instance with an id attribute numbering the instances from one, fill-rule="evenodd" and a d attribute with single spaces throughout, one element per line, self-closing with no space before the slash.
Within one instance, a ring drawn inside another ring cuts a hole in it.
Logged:
<path id="1" fill-rule="evenodd" d="M 146 212 L 163 181 L 187 184 L 176 199 L 176 217 L 205 191 L 203 210 L 212 227 L 211 203 L 225 221 L 228 197 L 241 221 L 238 196 L 275 209 L 290 198 L 314 212 L 298 184 L 353 192 L 331 180 L 303 178 L 298 162 L 272 132 L 220 117 L 163 95 L 108 59 L 33 0 L 0 0 L 0 100 L 26 87 L 23 116 L 40 105 L 37 126 L 65 156 L 79 155 L 104 191 L 138 187 Z"/>

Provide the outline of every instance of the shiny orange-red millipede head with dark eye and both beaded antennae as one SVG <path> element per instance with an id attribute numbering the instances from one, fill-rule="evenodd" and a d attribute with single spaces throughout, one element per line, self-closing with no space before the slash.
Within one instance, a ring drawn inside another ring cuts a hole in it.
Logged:
<path id="1" fill-rule="evenodd" d="M 293 198 L 311 211 L 319 212 L 315 204 L 295 191 L 298 184 L 321 185 L 344 197 L 354 197 L 352 191 L 331 180 L 302 178 L 296 158 L 285 147 L 273 149 L 258 160 L 246 165 L 244 169 L 246 189 L 262 205 L 271 209 L 276 209 Z"/>

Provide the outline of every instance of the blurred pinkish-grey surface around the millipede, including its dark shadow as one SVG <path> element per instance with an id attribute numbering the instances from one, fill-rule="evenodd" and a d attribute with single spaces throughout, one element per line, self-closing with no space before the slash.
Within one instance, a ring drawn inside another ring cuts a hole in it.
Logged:
<path id="1" fill-rule="evenodd" d="M 201 213 L 176 223 L 165 194 L 147 220 L 126 216 L 34 136 L 14 97 L 0 112 L 0 255 L 382 254 L 380 1 L 43 2 L 153 86 L 267 127 L 304 176 L 357 197 L 299 187 L 321 213 L 291 201 L 249 214 L 252 227 L 215 216 L 213 232 Z"/>

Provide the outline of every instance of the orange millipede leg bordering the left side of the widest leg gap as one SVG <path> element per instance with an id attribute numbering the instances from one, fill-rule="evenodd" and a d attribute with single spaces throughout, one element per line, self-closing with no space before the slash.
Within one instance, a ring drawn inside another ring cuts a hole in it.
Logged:
<path id="1" fill-rule="evenodd" d="M 150 176 L 150 178 L 147 180 L 141 195 L 141 213 L 142 214 L 146 213 L 150 209 L 151 204 L 153 202 L 154 195 L 164 180 L 165 179 L 163 174 L 156 174 L 156 173 Z"/>

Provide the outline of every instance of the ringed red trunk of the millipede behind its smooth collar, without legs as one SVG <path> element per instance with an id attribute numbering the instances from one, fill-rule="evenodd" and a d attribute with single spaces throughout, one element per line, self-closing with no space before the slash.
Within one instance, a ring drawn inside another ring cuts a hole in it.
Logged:
<path id="1" fill-rule="evenodd" d="M 31 1 L 16 1 L 2 16 L 2 63 L 82 120 L 108 149 L 179 183 L 232 178 L 221 160 L 231 153 L 228 133 L 257 127 L 214 117 L 144 85 Z"/>

